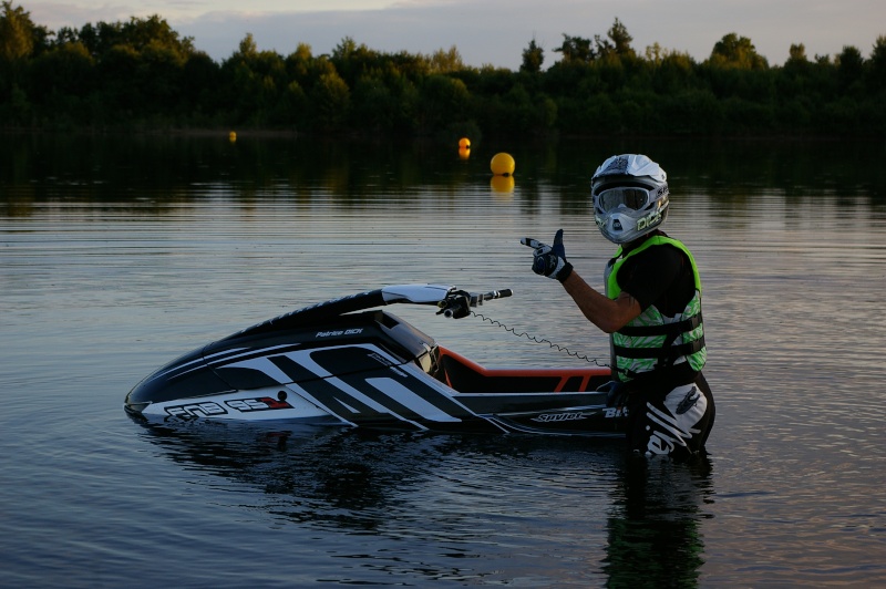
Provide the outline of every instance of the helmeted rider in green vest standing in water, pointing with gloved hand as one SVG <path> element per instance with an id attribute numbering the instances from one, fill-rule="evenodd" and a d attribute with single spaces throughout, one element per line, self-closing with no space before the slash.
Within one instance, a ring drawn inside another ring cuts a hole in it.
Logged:
<path id="1" fill-rule="evenodd" d="M 704 452 L 714 403 L 701 369 L 707 359 L 701 280 L 692 255 L 658 227 L 668 216 L 664 170 L 645 155 L 609 157 L 590 180 L 594 218 L 618 251 L 606 267 L 606 293 L 566 261 L 563 229 L 554 246 L 532 239 L 533 270 L 555 278 L 595 326 L 610 334 L 607 404 L 628 410 L 628 446 L 653 455 Z"/>

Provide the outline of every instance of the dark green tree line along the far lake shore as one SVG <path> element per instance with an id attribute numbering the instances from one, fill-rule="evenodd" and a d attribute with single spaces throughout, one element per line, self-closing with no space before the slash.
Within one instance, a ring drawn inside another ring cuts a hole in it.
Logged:
<path id="1" fill-rule="evenodd" d="M 792 44 L 771 65 L 728 33 L 708 59 L 658 43 L 640 53 L 616 19 L 563 34 L 545 66 L 530 40 L 517 71 L 463 63 L 455 46 L 388 53 L 346 37 L 329 54 L 281 55 L 247 34 L 215 62 L 158 16 L 50 31 L 0 11 L 0 126 L 31 130 L 254 128 L 403 136 L 659 134 L 886 135 L 886 35 L 868 56 Z"/>

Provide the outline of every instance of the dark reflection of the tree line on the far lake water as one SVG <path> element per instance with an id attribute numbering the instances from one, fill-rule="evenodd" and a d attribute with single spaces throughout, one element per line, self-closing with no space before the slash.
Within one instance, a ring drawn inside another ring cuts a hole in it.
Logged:
<path id="1" fill-rule="evenodd" d="M 763 148 L 764 147 L 764 148 Z M 586 211 L 596 165 L 615 152 L 645 152 L 672 170 L 676 195 L 704 193 L 730 207 L 753 206 L 761 187 L 787 203 L 837 196 L 841 207 L 886 206 L 886 143 L 761 142 L 631 138 L 552 143 L 487 142 L 471 159 L 434 142 L 322 141 L 240 136 L 105 136 L 7 134 L 0 142 L 0 202 L 9 216 L 37 203 L 128 203 L 134 211 L 163 213 L 158 204 L 199 203 L 206 195 L 311 202 L 330 198 L 370 206 L 375 195 L 457 197 L 467 185 L 508 194 L 514 183 L 490 173 L 499 148 L 517 162 L 527 202 L 557 186 L 563 206 Z M 138 186 L 137 190 L 133 187 Z M 146 195 L 150 195 L 146 198 Z M 861 198 L 859 198 L 861 197 Z M 789 211 L 790 214 L 790 211 Z"/>

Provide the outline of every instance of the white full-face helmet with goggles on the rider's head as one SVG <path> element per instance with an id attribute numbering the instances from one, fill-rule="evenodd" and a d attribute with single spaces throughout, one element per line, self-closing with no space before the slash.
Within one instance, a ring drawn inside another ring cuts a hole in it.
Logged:
<path id="1" fill-rule="evenodd" d="M 614 155 L 590 179 L 594 220 L 614 244 L 645 236 L 668 216 L 668 175 L 645 155 Z"/>

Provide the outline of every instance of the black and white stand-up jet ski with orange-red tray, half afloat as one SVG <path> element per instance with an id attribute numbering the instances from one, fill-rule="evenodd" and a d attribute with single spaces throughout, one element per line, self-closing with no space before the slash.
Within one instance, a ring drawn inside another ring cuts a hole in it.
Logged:
<path id="1" fill-rule="evenodd" d="M 487 369 L 381 309 L 461 319 L 512 291 L 399 285 L 301 309 L 189 352 L 140 382 L 137 418 L 318 424 L 443 433 L 624 435 L 606 366 Z"/>

